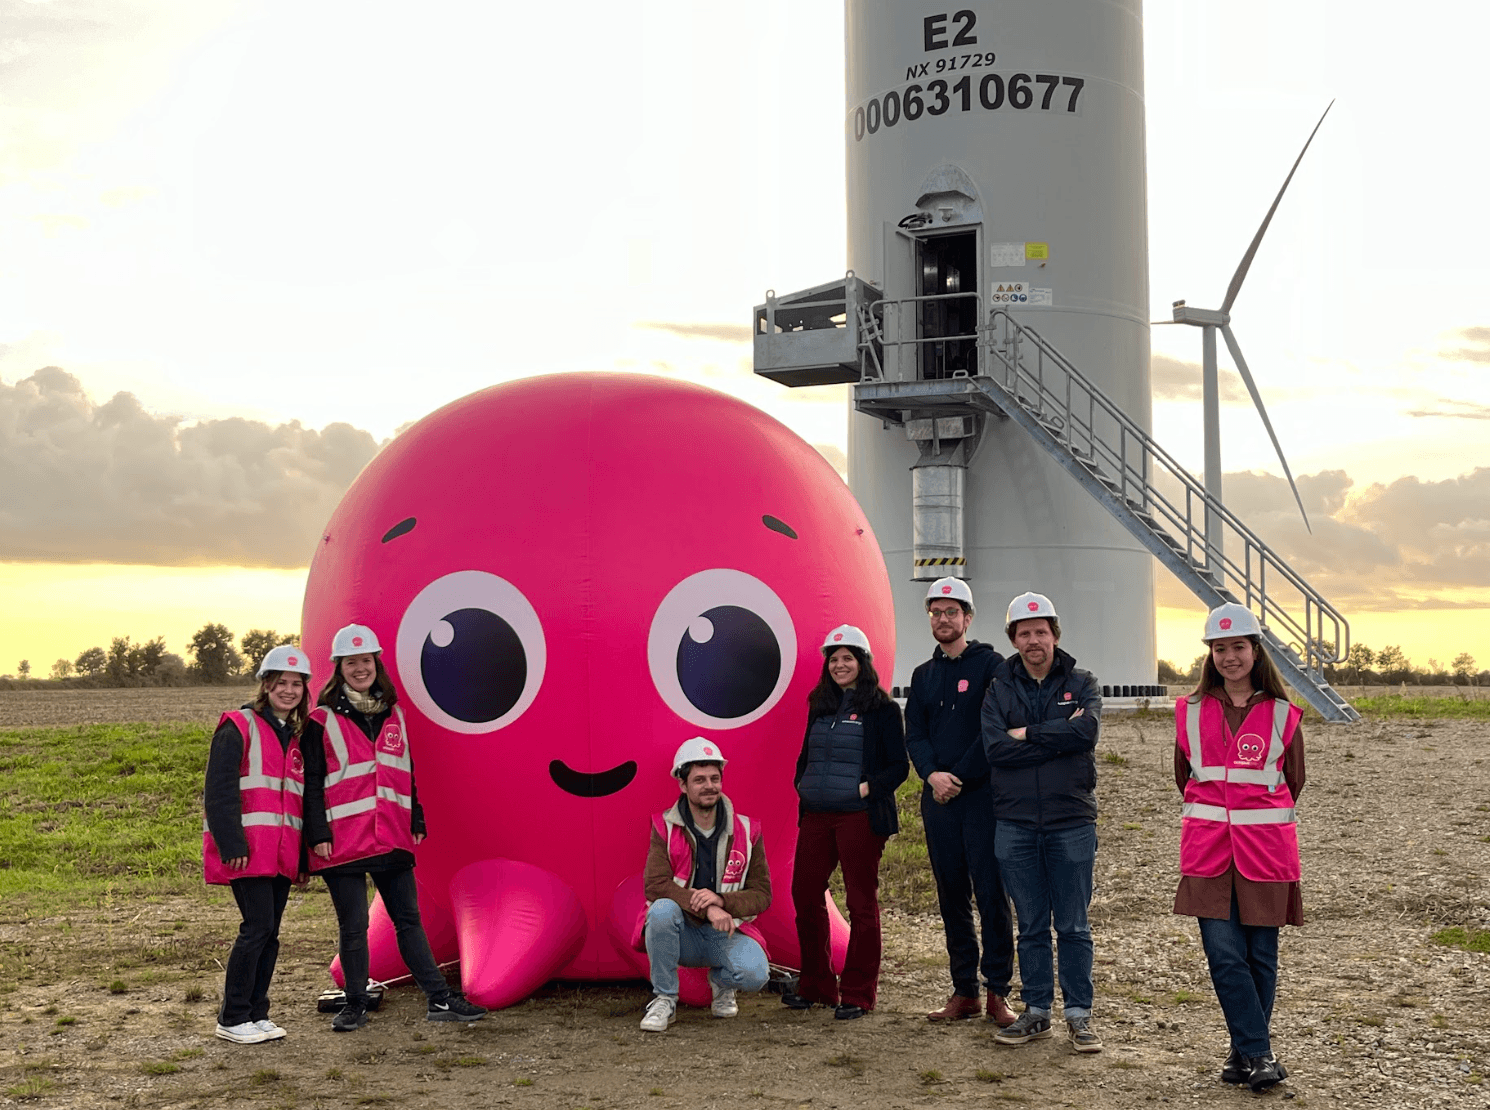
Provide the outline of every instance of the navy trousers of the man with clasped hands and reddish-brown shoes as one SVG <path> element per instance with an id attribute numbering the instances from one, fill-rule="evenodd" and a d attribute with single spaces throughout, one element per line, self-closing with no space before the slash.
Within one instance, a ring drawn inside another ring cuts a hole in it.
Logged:
<path id="1" fill-rule="evenodd" d="M 936 878 L 937 906 L 946 930 L 946 955 L 952 968 L 952 991 L 977 997 L 977 973 L 989 994 L 1009 997 L 1015 974 L 1015 916 L 994 854 L 994 794 L 983 785 L 964 790 L 946 805 L 937 805 L 927 787 L 921 791 L 921 822 L 927 831 L 927 855 Z M 973 900 L 982 918 L 983 960 L 977 960 L 977 930 Z"/>

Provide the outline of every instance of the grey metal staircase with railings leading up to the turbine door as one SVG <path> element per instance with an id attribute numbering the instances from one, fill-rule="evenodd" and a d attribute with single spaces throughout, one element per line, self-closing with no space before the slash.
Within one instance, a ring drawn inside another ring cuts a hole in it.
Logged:
<path id="1" fill-rule="evenodd" d="M 915 299 L 915 298 L 910 298 Z M 1240 602 L 1264 624 L 1264 645 L 1284 679 L 1326 721 L 1360 718 L 1325 678 L 1350 651 L 1350 626 L 1205 486 L 1159 447 L 1034 328 L 995 310 L 980 329 L 976 377 L 887 381 L 885 337 L 863 305 L 860 411 L 901 423 L 983 411 L 1024 428 L 1196 597 L 1214 608 Z M 875 311 L 878 310 L 878 313 Z M 1207 518 L 1216 547 L 1207 547 Z"/>

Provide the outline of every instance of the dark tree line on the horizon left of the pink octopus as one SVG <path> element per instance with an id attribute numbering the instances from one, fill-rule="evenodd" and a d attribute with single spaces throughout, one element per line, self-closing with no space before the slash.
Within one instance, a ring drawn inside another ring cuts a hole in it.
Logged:
<path id="1" fill-rule="evenodd" d="M 280 644 L 299 644 L 299 633 L 249 629 L 235 644 L 226 624 L 209 623 L 188 641 L 188 663 L 165 650 L 164 636 L 143 644 L 115 636 L 107 648 L 92 647 L 76 659 L 57 660 L 49 678 L 60 685 L 82 687 L 221 685 L 253 678 L 264 657 Z M 21 660 L 16 678 L 33 679 L 31 660 Z"/>

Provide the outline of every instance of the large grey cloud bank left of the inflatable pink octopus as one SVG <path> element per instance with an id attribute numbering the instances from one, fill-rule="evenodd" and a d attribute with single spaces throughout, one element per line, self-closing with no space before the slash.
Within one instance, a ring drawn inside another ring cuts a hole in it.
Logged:
<path id="1" fill-rule="evenodd" d="M 377 448 L 344 423 L 185 423 L 131 393 L 97 404 L 46 367 L 0 381 L 0 560 L 305 566 Z"/>

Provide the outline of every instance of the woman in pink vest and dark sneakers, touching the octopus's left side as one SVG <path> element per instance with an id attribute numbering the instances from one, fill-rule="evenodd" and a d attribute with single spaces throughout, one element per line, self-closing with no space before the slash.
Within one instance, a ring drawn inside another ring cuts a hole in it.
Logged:
<path id="1" fill-rule="evenodd" d="M 486 1016 L 446 983 L 419 918 L 414 845 L 425 839 L 425 811 L 381 651 L 372 629 L 341 629 L 331 641 L 335 669 L 305 726 L 305 842 L 310 867 L 326 881 L 337 909 L 347 992 L 331 1019 L 337 1033 L 368 1019 L 368 878 L 383 897 L 404 964 L 428 995 L 429 1021 Z"/>

